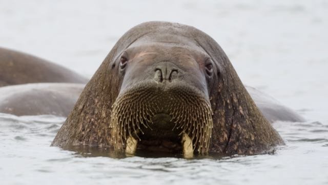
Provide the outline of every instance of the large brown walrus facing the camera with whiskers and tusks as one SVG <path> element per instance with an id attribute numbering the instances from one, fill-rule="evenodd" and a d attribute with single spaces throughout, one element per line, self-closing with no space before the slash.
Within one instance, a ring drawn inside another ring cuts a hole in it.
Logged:
<path id="1" fill-rule="evenodd" d="M 213 38 L 147 22 L 118 40 L 51 146 L 191 158 L 262 154 L 283 144 Z"/>

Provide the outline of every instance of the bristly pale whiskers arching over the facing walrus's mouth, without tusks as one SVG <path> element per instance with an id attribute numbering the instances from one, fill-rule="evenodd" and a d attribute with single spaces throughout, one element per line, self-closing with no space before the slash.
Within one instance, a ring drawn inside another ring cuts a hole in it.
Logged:
<path id="1" fill-rule="evenodd" d="M 194 92 L 188 87 L 180 90 L 173 88 L 172 91 L 160 91 L 160 88 L 146 90 L 145 88 L 147 89 L 142 85 L 131 87 L 130 91 L 127 90 L 118 96 L 113 104 L 110 125 L 112 136 L 115 135 L 112 137 L 116 141 L 114 148 L 127 147 L 127 139 L 134 137 L 131 131 L 136 133 L 138 129 L 142 135 L 145 134 L 142 128 L 152 131 L 150 124 L 153 125 L 154 120 L 151 117 L 164 112 L 168 113 L 170 122 L 174 125 L 172 131 L 179 130 L 177 136 L 183 136 L 183 133 L 190 135 L 193 150 L 197 149 L 199 153 L 202 151 L 206 153 L 210 138 L 209 130 L 211 130 L 206 127 L 211 126 L 208 116 L 212 113 L 208 100 L 203 99 L 197 91 Z M 134 93 L 138 94 L 139 98 L 133 95 Z M 149 97 L 146 98 L 146 95 Z M 142 138 L 137 134 L 136 137 L 141 141 Z"/>

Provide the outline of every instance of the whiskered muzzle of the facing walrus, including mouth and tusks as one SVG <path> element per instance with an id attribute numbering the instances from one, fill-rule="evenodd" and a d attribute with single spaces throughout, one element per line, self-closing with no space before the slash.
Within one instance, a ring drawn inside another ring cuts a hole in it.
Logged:
<path id="1" fill-rule="evenodd" d="M 114 149 L 168 150 L 192 156 L 208 153 L 213 128 L 210 101 L 197 88 L 174 83 L 142 81 L 116 98 L 110 128 Z"/>

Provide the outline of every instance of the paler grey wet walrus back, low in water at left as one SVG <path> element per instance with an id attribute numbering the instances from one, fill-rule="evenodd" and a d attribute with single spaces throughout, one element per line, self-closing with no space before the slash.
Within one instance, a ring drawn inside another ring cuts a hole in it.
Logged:
<path id="1" fill-rule="evenodd" d="M 0 112 L 67 117 L 84 84 L 33 83 L 0 88 Z"/>

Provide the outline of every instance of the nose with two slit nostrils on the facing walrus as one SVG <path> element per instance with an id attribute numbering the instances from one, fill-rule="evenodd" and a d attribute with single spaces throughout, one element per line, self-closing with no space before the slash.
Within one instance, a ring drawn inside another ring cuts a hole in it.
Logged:
<path id="1" fill-rule="evenodd" d="M 178 69 L 169 62 L 161 63 L 155 68 L 155 81 L 162 83 L 163 81 L 171 82 L 178 77 Z"/>

